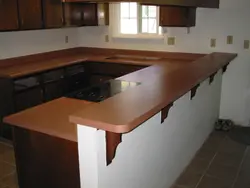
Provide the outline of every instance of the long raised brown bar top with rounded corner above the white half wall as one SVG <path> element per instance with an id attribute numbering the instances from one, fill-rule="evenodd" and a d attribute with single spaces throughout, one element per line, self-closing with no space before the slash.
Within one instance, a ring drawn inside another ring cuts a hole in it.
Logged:
<path id="1" fill-rule="evenodd" d="M 125 75 L 118 79 L 142 84 L 72 114 L 70 121 L 108 132 L 128 133 L 227 66 L 236 56 L 212 53 L 171 71 L 171 65 L 158 63 Z"/>

